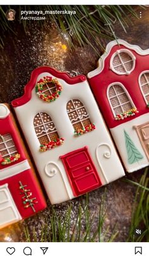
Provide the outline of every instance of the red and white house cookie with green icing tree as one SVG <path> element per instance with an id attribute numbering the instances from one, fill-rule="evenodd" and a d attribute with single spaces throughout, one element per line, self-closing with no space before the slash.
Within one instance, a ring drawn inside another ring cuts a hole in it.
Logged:
<path id="1" fill-rule="evenodd" d="M 149 50 L 112 41 L 88 73 L 98 106 L 126 170 L 149 165 Z"/>

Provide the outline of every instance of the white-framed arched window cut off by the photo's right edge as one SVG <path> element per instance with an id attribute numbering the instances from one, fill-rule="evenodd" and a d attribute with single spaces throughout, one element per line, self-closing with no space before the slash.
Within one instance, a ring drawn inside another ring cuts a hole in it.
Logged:
<path id="1" fill-rule="evenodd" d="M 143 95 L 143 98 L 148 104 L 149 102 L 149 70 L 145 70 L 141 72 L 139 76 L 139 85 L 140 85 L 140 90 Z"/>

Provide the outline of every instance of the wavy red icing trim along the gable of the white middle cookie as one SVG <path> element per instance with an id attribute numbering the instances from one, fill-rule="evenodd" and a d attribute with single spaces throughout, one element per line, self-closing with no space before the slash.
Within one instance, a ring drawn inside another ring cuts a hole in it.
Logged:
<path id="1" fill-rule="evenodd" d="M 74 85 L 75 83 L 80 83 L 86 80 L 86 76 L 84 75 L 78 75 L 75 77 L 69 76 L 65 72 L 59 72 L 57 70 L 54 70 L 53 68 L 50 68 L 49 66 L 42 66 L 39 68 L 36 68 L 32 71 L 30 81 L 25 85 L 25 93 L 22 97 L 15 99 L 11 102 L 13 107 L 22 106 L 23 104 L 26 104 L 28 101 L 30 101 L 32 97 L 32 90 L 35 87 L 35 83 L 37 82 L 37 77 L 41 73 L 51 73 L 51 75 L 56 76 L 56 78 L 63 79 L 66 83 L 69 83 L 70 85 Z"/>

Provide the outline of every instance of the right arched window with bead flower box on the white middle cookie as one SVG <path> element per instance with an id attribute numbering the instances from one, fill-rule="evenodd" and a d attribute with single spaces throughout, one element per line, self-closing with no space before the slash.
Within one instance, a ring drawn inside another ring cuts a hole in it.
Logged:
<path id="1" fill-rule="evenodd" d="M 71 99 L 71 101 L 68 102 L 66 109 L 75 130 L 75 135 L 81 135 L 95 129 L 95 125 L 91 123 L 90 117 L 81 101 L 78 99 Z"/>

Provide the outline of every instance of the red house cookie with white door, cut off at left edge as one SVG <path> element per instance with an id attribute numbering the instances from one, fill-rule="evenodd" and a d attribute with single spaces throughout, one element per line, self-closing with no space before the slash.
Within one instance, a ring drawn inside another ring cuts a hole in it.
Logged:
<path id="1" fill-rule="evenodd" d="M 15 120 L 0 104 L 0 228 L 46 207 Z"/>

